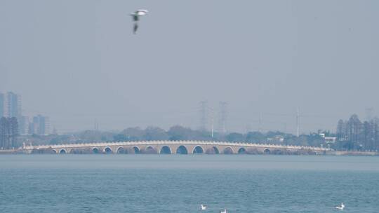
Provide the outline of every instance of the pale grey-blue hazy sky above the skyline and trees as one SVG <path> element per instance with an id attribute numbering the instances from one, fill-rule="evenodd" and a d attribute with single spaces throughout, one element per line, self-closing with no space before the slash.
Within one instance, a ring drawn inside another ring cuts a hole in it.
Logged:
<path id="1" fill-rule="evenodd" d="M 149 10 L 133 35 L 129 13 Z M 199 126 L 335 130 L 379 111 L 379 1 L 0 0 L 0 90 L 59 132 Z M 215 113 L 215 119 L 217 119 Z"/>

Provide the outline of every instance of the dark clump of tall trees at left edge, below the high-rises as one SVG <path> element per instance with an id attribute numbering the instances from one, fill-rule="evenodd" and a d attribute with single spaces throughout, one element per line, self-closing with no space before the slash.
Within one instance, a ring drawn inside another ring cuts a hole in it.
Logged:
<path id="1" fill-rule="evenodd" d="M 17 118 L 0 118 L 0 149 L 13 149 L 18 146 Z"/>

